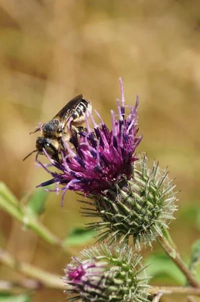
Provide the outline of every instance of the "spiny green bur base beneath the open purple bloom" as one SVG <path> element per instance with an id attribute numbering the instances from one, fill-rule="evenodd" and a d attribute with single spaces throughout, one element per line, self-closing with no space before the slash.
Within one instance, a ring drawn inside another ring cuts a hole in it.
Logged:
<path id="1" fill-rule="evenodd" d="M 89 223 L 88 228 L 104 231 L 99 234 L 99 242 L 127 242 L 131 236 L 138 248 L 141 243 L 151 245 L 156 236 L 163 236 L 163 229 L 174 218 L 177 192 L 173 181 L 158 163 L 153 162 L 149 169 L 147 157 L 139 157 L 129 180 L 121 177 L 115 188 L 104 191 L 104 195 L 90 194 L 92 202 L 82 201 L 89 204 L 84 215 L 101 218 Z"/>

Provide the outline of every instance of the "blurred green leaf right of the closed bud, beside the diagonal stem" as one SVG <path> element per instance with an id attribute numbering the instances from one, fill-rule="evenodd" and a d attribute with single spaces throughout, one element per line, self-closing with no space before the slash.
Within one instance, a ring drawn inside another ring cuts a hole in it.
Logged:
<path id="1" fill-rule="evenodd" d="M 179 268 L 173 263 L 173 261 L 165 254 L 156 253 L 148 256 L 144 265 L 149 265 L 146 268 L 148 276 L 173 279 L 177 284 L 183 285 L 185 277 L 179 270 Z"/>

